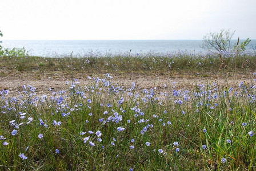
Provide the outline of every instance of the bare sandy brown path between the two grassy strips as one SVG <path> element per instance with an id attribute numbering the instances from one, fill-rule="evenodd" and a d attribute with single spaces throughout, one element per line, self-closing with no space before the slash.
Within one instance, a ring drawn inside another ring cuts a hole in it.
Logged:
<path id="1" fill-rule="evenodd" d="M 98 75 L 99 78 L 103 78 L 104 75 Z M 76 74 L 75 78 L 78 79 L 81 86 L 85 86 L 90 82 L 87 75 Z M 63 74 L 47 75 L 43 74 L 41 78 L 35 78 L 33 73 L 26 74 L 10 74 L 0 77 L 0 89 L 9 89 L 15 93 L 21 90 L 23 85 L 31 85 L 36 89 L 38 94 L 50 94 L 49 88 L 54 91 L 60 91 L 67 88 L 66 81 L 71 81 L 71 77 Z M 112 83 L 117 83 L 119 86 L 131 87 L 131 83 L 134 82 L 141 88 L 153 88 L 157 87 L 157 91 L 170 92 L 173 89 L 191 89 L 197 84 L 207 84 L 215 82 L 218 86 L 238 88 L 239 83 L 245 81 L 247 84 L 254 84 L 254 79 L 251 74 L 248 75 L 233 75 L 220 77 L 217 75 L 207 76 L 202 78 L 200 76 L 145 76 L 145 75 L 116 75 L 111 79 Z M 175 84 L 173 84 L 175 82 Z M 163 86 L 166 84 L 166 87 Z M 175 86 L 175 88 L 173 87 Z"/>

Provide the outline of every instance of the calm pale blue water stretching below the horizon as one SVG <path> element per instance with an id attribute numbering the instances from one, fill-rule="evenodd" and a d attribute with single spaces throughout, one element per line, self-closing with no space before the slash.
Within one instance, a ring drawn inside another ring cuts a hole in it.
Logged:
<path id="1" fill-rule="evenodd" d="M 252 40 L 251 44 L 256 46 L 256 40 Z M 130 50 L 131 54 L 205 52 L 202 49 L 202 40 L 3 40 L 2 46 L 25 47 L 29 55 L 51 57 L 69 55 L 71 52 L 78 56 L 90 53 L 124 54 Z"/>

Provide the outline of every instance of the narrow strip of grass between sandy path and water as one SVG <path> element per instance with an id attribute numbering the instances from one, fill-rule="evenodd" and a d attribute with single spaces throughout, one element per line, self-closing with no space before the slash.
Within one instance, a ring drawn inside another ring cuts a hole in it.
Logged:
<path id="1" fill-rule="evenodd" d="M 221 57 L 220 57 L 221 56 Z M 85 54 L 57 58 L 37 56 L 2 56 L 0 67 L 8 71 L 70 71 L 89 74 L 171 74 L 172 72 L 244 72 L 256 67 L 253 52 L 190 54 L 188 52 L 148 54 Z"/>

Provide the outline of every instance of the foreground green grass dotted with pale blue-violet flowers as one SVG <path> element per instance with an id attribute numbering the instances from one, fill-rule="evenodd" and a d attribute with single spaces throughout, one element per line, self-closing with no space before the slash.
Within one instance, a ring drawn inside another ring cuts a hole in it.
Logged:
<path id="1" fill-rule="evenodd" d="M 159 92 L 87 79 L 50 96 L 0 92 L 1 169 L 255 169 L 255 80 Z"/>

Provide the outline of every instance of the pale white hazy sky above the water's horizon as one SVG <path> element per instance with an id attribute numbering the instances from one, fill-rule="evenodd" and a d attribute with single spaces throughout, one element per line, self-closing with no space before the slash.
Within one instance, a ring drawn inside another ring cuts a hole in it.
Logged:
<path id="1" fill-rule="evenodd" d="M 255 0 L 1 0 L 2 40 L 256 39 Z"/>

